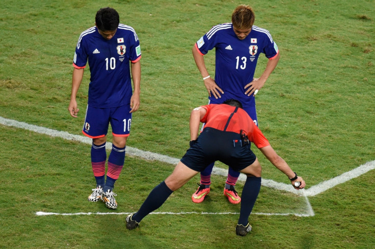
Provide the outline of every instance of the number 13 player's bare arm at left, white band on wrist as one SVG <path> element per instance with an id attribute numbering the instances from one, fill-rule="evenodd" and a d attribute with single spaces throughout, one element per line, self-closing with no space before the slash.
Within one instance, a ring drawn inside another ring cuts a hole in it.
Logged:
<path id="1" fill-rule="evenodd" d="M 198 67 L 199 72 L 202 75 L 204 86 L 207 89 L 208 95 L 211 97 L 211 94 L 216 99 L 221 98 L 220 93 L 224 94 L 223 90 L 216 84 L 215 80 L 209 76 L 206 65 L 204 63 L 204 58 L 200 54 L 195 46 L 193 46 L 193 57 L 195 64 Z"/>

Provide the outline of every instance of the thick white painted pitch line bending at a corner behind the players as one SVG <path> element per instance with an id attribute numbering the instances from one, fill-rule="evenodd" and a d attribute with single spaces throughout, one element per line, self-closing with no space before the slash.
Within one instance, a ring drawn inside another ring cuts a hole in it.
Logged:
<path id="1" fill-rule="evenodd" d="M 78 142 L 85 143 L 85 144 L 92 143 L 92 140 L 89 137 L 86 137 L 83 135 L 74 135 L 66 131 L 52 130 L 49 128 L 45 128 L 45 127 L 41 127 L 37 125 L 31 125 L 31 124 L 19 122 L 19 121 L 12 120 L 12 119 L 5 119 L 3 117 L 0 117 L 0 124 L 6 125 L 6 126 L 13 126 L 16 128 L 22 128 L 22 129 L 34 131 L 40 134 L 46 134 L 49 136 L 61 137 L 62 139 L 66 139 L 66 140 L 74 140 L 74 141 L 78 141 Z M 111 148 L 112 148 L 112 144 L 110 142 L 106 143 L 106 149 L 111 149 Z M 180 161 L 177 158 L 173 158 L 170 156 L 161 155 L 161 154 L 157 154 L 157 153 L 153 153 L 149 151 L 142 151 L 137 148 L 132 148 L 129 146 L 126 147 L 126 153 L 129 155 L 138 156 L 147 160 L 158 160 L 158 161 L 167 162 L 167 163 L 174 164 L 174 165 Z M 311 186 L 310 188 L 305 189 L 304 191 L 296 190 L 290 184 L 276 182 L 276 181 L 269 180 L 269 179 L 262 179 L 262 185 L 266 187 L 271 187 L 271 188 L 276 188 L 279 190 L 291 192 L 298 196 L 305 196 L 305 197 L 316 196 L 319 193 L 322 193 L 340 183 L 344 183 L 353 178 L 359 177 L 362 174 L 365 174 L 366 172 L 373 170 L 373 169 L 375 169 L 375 160 L 366 162 L 365 164 L 359 166 L 358 168 L 351 170 L 349 172 L 345 172 L 340 176 L 321 182 L 315 186 Z M 221 169 L 221 168 L 214 167 L 212 174 L 227 176 L 228 171 Z M 246 181 L 246 176 L 244 174 L 241 174 L 238 180 Z"/>

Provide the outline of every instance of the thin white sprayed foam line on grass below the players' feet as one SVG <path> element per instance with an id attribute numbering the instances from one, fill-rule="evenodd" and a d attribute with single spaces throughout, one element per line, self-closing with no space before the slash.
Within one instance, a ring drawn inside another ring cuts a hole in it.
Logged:
<path id="1" fill-rule="evenodd" d="M 96 212 L 96 213 L 92 213 L 92 212 L 88 212 L 88 213 L 51 213 L 51 212 L 36 212 L 36 215 L 37 216 L 48 216 L 48 215 L 62 215 L 62 216 L 71 216 L 71 215 L 108 215 L 108 214 L 115 214 L 115 215 L 128 215 L 128 214 L 132 214 L 132 213 L 125 213 L 125 212 L 121 212 L 121 213 L 115 213 L 115 212 L 108 212 L 108 213 L 101 213 L 101 212 Z M 215 212 L 215 213 L 212 213 L 212 212 L 178 212 L 178 213 L 175 213 L 175 212 L 151 212 L 149 214 L 172 214 L 172 215 L 180 215 L 180 214 L 201 214 L 201 215 L 219 215 L 219 214 L 236 214 L 238 215 L 239 213 L 236 213 L 236 212 Z M 288 215 L 295 215 L 295 216 L 299 216 L 299 217 L 308 217 L 308 216 L 313 216 L 311 214 L 299 214 L 299 213 L 251 213 L 251 214 L 255 214 L 255 215 L 268 215 L 268 216 L 272 216 L 272 215 L 279 215 L 279 216 L 288 216 Z"/>

